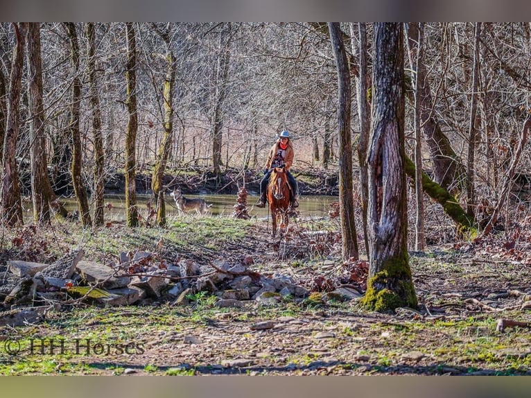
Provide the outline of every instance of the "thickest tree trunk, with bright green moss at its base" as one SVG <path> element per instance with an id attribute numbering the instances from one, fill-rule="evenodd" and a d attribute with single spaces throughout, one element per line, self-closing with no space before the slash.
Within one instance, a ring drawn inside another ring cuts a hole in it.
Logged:
<path id="1" fill-rule="evenodd" d="M 375 311 L 417 307 L 408 259 L 402 26 L 374 24 L 367 209 L 370 266 L 362 304 Z"/>

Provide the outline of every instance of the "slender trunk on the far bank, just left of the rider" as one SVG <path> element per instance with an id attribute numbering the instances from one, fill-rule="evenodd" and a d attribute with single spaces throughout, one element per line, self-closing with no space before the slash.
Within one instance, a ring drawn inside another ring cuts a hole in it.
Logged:
<path id="1" fill-rule="evenodd" d="M 223 129 L 223 103 L 225 102 L 227 80 L 229 78 L 229 60 L 231 43 L 231 24 L 227 24 L 228 32 L 220 33 L 220 54 L 218 58 L 218 69 L 216 73 L 216 92 L 214 94 L 214 112 L 212 115 L 212 163 L 214 173 L 221 173 L 221 145 Z M 227 42 L 224 42 L 227 35 Z"/>

